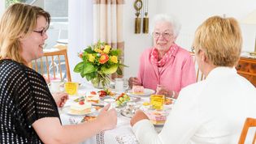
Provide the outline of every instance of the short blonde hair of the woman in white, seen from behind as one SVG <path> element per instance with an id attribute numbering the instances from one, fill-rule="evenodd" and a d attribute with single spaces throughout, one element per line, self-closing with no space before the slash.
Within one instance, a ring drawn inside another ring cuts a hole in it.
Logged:
<path id="1" fill-rule="evenodd" d="M 215 66 L 236 66 L 241 54 L 241 29 L 233 18 L 213 16 L 197 28 L 193 47 L 201 49 Z"/>

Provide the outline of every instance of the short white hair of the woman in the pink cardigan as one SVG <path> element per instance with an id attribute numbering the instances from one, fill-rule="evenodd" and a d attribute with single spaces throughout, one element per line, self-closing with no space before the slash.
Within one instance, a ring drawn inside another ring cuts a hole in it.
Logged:
<path id="1" fill-rule="evenodd" d="M 158 22 L 167 22 L 172 26 L 172 31 L 174 36 L 178 36 L 180 33 L 181 24 L 178 19 L 174 15 L 164 15 L 158 14 L 154 16 L 152 23 L 150 24 L 150 33 L 154 32 L 155 24 Z"/>

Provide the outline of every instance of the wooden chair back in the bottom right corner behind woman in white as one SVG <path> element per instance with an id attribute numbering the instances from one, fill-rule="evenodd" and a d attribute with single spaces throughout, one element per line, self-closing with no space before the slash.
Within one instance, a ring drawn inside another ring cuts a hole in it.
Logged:
<path id="1" fill-rule="evenodd" d="M 251 128 L 251 127 L 256 127 L 256 119 L 248 117 L 245 120 L 245 124 L 244 124 L 244 127 L 242 129 L 241 136 L 239 138 L 238 144 L 244 144 L 245 143 L 245 138 L 246 138 L 246 135 L 248 133 L 248 129 Z M 256 142 L 256 130 L 254 132 L 253 144 L 255 144 L 255 142 Z"/>

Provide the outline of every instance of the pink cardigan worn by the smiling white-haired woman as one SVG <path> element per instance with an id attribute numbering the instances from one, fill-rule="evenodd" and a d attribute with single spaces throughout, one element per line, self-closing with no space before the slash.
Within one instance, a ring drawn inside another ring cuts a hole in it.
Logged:
<path id="1" fill-rule="evenodd" d="M 156 90 L 157 85 L 160 84 L 168 90 L 179 92 L 183 87 L 196 83 L 193 57 L 187 50 L 179 47 L 165 66 L 158 67 L 150 61 L 152 49 L 145 49 L 141 54 L 137 75 L 145 88 Z M 161 73 L 159 69 L 163 69 Z"/>

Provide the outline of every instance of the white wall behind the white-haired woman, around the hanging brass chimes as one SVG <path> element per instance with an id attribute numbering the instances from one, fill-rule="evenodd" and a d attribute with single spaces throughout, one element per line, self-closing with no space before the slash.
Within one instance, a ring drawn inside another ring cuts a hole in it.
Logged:
<path id="1" fill-rule="evenodd" d="M 148 0 L 150 19 L 158 13 L 176 15 L 182 24 L 180 36 L 176 43 L 184 49 L 190 50 L 193 34 L 196 28 L 212 15 L 224 14 L 227 17 L 242 19 L 256 9 L 255 0 Z M 133 0 L 126 0 L 124 5 L 124 62 L 128 68 L 124 76 L 136 76 L 139 66 L 139 56 L 142 51 L 152 45 L 151 36 L 134 34 L 135 10 Z M 161 8 L 157 8 L 161 7 Z M 254 51 L 256 25 L 241 24 L 243 33 L 243 50 Z"/>

